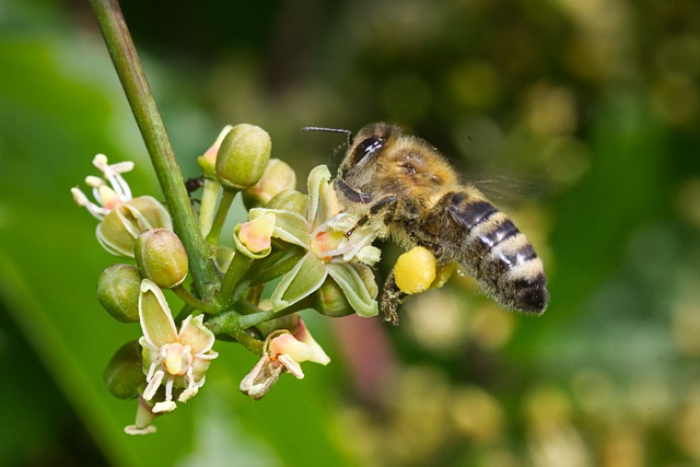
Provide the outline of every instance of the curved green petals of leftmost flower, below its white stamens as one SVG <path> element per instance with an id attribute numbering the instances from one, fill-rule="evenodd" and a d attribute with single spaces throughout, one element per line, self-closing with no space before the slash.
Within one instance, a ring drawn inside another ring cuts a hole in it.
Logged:
<path id="1" fill-rule="evenodd" d="M 151 227 L 173 230 L 171 217 L 155 198 L 140 196 L 117 206 L 97 225 L 97 241 L 110 254 L 133 258 L 133 244 Z"/>

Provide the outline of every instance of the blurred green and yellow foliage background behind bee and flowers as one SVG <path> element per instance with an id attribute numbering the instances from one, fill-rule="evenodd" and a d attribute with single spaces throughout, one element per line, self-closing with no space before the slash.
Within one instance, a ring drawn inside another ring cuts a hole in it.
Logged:
<path id="1" fill-rule="evenodd" d="M 256 359 L 219 342 L 194 400 L 125 435 L 102 373 L 140 332 L 95 299 L 115 260 L 69 188 L 104 152 L 160 192 L 88 2 L 0 0 L 1 465 L 700 465 L 697 0 L 122 9 L 186 176 L 225 124 L 304 180 L 342 140 L 302 126 L 398 122 L 512 215 L 551 304 L 504 313 L 456 278 L 398 328 L 305 314 L 328 367 L 253 402 Z"/>

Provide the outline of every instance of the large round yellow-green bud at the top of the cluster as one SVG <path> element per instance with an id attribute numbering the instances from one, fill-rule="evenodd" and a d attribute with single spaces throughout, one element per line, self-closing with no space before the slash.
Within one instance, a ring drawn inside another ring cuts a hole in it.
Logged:
<path id="1" fill-rule="evenodd" d="M 217 175 L 224 188 L 243 190 L 255 185 L 270 160 L 270 136 L 254 125 L 236 125 L 217 153 Z"/>

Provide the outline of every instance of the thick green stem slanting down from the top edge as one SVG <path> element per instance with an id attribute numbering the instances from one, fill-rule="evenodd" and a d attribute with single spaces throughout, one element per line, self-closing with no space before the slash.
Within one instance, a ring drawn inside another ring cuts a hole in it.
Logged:
<path id="1" fill-rule="evenodd" d="M 187 249 L 189 268 L 201 299 L 219 289 L 219 276 L 211 252 L 195 220 L 175 154 L 165 133 L 151 89 L 141 68 L 131 35 L 117 0 L 91 0 L 109 56 L 151 155 L 161 189 L 173 215 L 173 224 Z"/>

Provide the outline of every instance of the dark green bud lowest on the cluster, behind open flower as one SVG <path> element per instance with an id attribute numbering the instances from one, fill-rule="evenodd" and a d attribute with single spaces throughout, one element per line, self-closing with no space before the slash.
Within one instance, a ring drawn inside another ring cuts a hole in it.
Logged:
<path id="1" fill-rule="evenodd" d="M 139 395 L 139 389 L 145 384 L 145 376 L 141 346 L 136 340 L 121 346 L 109 360 L 104 382 L 109 393 L 119 399 L 133 399 Z"/>

